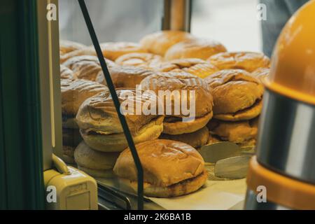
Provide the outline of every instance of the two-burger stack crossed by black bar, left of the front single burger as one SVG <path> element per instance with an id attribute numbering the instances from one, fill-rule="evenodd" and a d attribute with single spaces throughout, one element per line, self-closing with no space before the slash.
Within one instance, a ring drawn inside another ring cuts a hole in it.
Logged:
<path id="1" fill-rule="evenodd" d="M 139 98 L 137 90 L 131 88 L 118 88 L 116 92 L 120 103 L 127 100 L 134 110 L 136 103 L 142 105 L 155 98 L 154 94 L 142 94 Z M 135 144 L 158 139 L 162 133 L 164 116 L 141 113 L 125 114 L 125 118 Z M 95 177 L 113 176 L 116 159 L 128 145 L 109 90 L 87 99 L 80 106 L 76 120 L 85 141 L 74 153 L 78 168 Z"/>

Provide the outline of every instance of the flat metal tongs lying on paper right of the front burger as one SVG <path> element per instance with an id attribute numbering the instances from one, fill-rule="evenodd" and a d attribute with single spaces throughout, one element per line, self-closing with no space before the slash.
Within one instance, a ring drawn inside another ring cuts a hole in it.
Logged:
<path id="1" fill-rule="evenodd" d="M 248 162 L 255 155 L 255 146 L 240 147 L 230 141 L 202 146 L 204 162 L 214 164 L 214 175 L 224 179 L 242 179 L 247 175 Z"/>

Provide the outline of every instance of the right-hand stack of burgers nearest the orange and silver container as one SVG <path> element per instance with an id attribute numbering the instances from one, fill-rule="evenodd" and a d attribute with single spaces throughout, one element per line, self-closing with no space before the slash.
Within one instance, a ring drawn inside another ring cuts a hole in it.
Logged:
<path id="1" fill-rule="evenodd" d="M 232 141 L 255 146 L 262 109 L 263 76 L 269 59 L 260 53 L 224 52 L 209 58 L 219 69 L 204 80 L 214 97 L 214 119 L 208 123 L 209 143 Z M 255 71 L 255 74 L 250 72 Z"/>

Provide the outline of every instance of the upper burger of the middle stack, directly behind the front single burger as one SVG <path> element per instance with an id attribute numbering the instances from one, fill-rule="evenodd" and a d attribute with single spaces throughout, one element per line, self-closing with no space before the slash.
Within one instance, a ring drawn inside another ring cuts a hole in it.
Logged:
<path id="1" fill-rule="evenodd" d="M 190 73 L 183 71 L 156 73 L 144 78 L 141 81 L 141 88 L 158 94 L 165 109 L 163 110 L 166 115 L 163 130 L 165 134 L 196 132 L 207 125 L 213 116 L 213 99 L 209 86 L 202 78 Z M 176 105 L 179 104 L 181 110 L 176 111 Z M 183 111 L 183 106 L 188 108 L 188 105 L 190 111 Z"/>

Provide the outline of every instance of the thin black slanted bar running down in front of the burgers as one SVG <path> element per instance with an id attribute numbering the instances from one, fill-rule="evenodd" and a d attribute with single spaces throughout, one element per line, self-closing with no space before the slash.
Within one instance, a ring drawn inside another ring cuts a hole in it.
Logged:
<path id="1" fill-rule="evenodd" d="M 92 43 L 94 45 L 94 48 L 97 52 L 97 57 L 99 58 L 99 62 L 102 66 L 102 71 L 104 73 L 104 77 L 107 83 L 107 86 L 109 87 L 109 92 L 111 92 L 111 97 L 113 98 L 113 103 L 115 105 L 116 111 L 118 113 L 118 118 L 120 120 L 121 125 L 123 126 L 123 131 L 125 133 L 125 137 L 127 139 L 128 146 L 130 148 L 130 151 L 132 153 L 132 158 L 134 159 L 134 163 L 137 167 L 138 172 L 138 209 L 142 210 L 144 209 L 144 172 L 141 166 L 141 162 L 139 159 L 139 155 L 137 153 L 136 147 L 134 146 L 134 141 L 132 139 L 132 135 L 130 134 L 129 127 L 127 125 L 125 116 L 123 116 L 122 113 L 120 113 L 120 102 L 118 100 L 118 96 L 116 94 L 115 87 L 113 86 L 113 81 L 111 80 L 111 75 L 109 74 L 109 69 L 106 66 L 106 62 L 101 50 L 101 47 L 99 46 L 99 41 L 97 40 L 97 35 L 94 31 L 94 27 L 92 25 L 90 15 L 87 11 L 85 1 L 84 0 L 78 0 L 78 3 L 80 4 L 81 11 L 83 13 L 83 17 L 85 20 L 85 23 L 87 25 L 87 29 L 90 33 Z"/>

